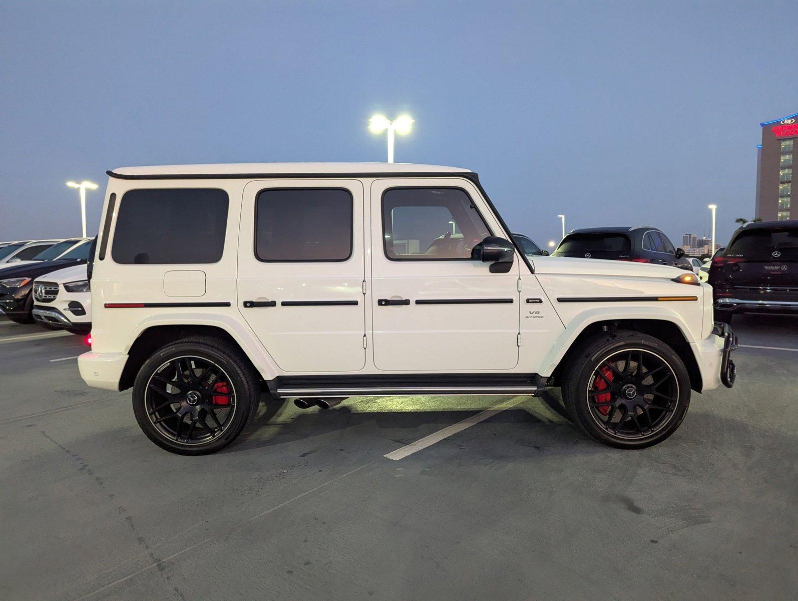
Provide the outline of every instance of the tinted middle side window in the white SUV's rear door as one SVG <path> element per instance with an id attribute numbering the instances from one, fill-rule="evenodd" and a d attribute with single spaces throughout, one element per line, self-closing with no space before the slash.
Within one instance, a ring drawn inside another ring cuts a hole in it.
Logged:
<path id="1" fill-rule="evenodd" d="M 352 256 L 352 193 L 275 188 L 255 200 L 255 256 L 267 262 L 346 261 Z"/>

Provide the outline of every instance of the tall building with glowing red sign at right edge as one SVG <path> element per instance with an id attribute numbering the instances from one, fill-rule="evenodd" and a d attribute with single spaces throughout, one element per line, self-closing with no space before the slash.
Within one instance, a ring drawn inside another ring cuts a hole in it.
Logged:
<path id="1" fill-rule="evenodd" d="M 798 153 L 798 113 L 760 123 L 757 147 L 757 217 L 764 221 L 791 219 L 792 156 Z M 798 190 L 798 189 L 796 189 Z M 798 205 L 792 219 L 798 219 Z"/>

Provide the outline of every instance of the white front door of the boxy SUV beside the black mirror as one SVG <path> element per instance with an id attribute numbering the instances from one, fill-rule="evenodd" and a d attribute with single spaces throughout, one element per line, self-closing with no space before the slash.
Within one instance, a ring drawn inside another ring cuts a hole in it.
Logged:
<path id="1" fill-rule="evenodd" d="M 506 237 L 460 178 L 371 186 L 373 358 L 378 370 L 510 370 L 518 362 L 519 256 L 508 273 L 471 259 Z"/>

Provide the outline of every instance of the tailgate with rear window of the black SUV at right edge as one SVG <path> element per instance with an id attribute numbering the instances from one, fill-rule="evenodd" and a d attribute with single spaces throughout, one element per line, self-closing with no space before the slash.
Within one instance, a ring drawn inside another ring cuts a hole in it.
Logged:
<path id="1" fill-rule="evenodd" d="M 798 292 L 798 227 L 741 231 L 726 248 L 723 275 L 736 287 Z"/>

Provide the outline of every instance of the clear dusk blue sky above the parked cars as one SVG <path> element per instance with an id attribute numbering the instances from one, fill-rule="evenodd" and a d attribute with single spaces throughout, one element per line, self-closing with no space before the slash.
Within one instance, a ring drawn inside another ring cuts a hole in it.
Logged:
<path id="1" fill-rule="evenodd" d="M 0 0 L 0 240 L 78 235 L 69 179 L 381 161 L 480 173 L 512 229 L 753 217 L 760 121 L 798 111 L 788 2 Z M 89 233 L 101 191 L 89 192 Z"/>

